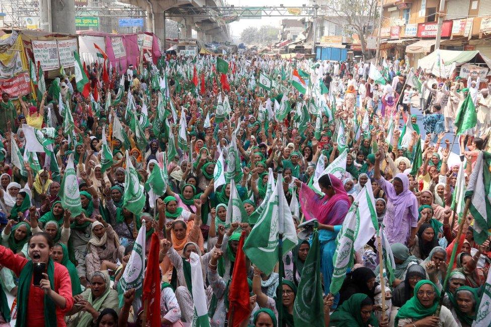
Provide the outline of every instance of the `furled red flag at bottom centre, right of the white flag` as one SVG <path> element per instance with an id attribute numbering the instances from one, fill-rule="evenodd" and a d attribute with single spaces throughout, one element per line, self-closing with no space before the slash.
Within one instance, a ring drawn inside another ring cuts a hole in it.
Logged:
<path id="1" fill-rule="evenodd" d="M 246 255 L 242 247 L 244 246 L 244 238 L 246 232 L 242 231 L 238 242 L 237 254 L 235 255 L 235 263 L 233 266 L 232 281 L 228 291 L 229 312 L 232 319 L 233 327 L 249 319 L 251 309 L 249 308 L 249 284 L 247 282 L 246 272 Z M 230 321 L 230 320 L 229 320 Z M 229 324 L 230 325 L 230 324 Z"/>

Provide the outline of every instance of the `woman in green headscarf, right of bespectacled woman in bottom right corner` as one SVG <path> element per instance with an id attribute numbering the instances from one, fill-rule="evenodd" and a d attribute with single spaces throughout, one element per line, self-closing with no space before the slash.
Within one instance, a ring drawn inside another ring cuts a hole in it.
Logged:
<path id="1" fill-rule="evenodd" d="M 479 295 L 475 288 L 469 286 L 460 286 L 455 294 L 448 293 L 452 303 L 452 315 L 460 322 L 462 327 L 472 326 L 478 308 L 477 299 Z"/>

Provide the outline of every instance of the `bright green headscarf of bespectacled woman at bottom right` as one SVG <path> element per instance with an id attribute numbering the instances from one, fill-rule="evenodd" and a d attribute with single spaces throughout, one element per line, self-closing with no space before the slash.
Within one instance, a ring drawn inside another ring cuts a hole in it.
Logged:
<path id="1" fill-rule="evenodd" d="M 433 287 L 433 291 L 435 292 L 435 301 L 433 302 L 433 305 L 429 308 L 425 307 L 423 304 L 421 304 L 420 300 L 418 300 L 418 291 L 421 286 L 425 284 L 430 284 Z M 412 318 L 416 321 L 434 314 L 437 310 L 439 299 L 440 292 L 438 291 L 436 285 L 428 279 L 420 280 L 415 286 L 414 296 L 407 300 L 407 302 L 397 312 L 394 320 L 394 326 L 397 326 L 399 319 Z"/>

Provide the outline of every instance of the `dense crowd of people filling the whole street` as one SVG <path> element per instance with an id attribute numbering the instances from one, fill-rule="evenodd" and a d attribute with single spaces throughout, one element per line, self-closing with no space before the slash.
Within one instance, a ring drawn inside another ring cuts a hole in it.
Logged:
<path id="1" fill-rule="evenodd" d="M 160 242 L 162 326 L 196 324 L 197 301 L 206 302 L 212 326 L 298 326 L 295 298 L 314 246 L 320 248 L 320 325 L 471 326 L 491 251 L 489 240 L 474 240 L 473 217 L 457 212 L 453 194 L 458 175 L 468 183 L 491 145 L 491 84 L 479 91 L 487 83 L 479 77 L 441 78 L 399 59 L 379 66 L 385 83 L 374 81 L 363 62 L 243 53 L 224 56 L 223 73 L 217 60 L 167 55 L 106 72 L 101 61 L 87 63 L 88 94 L 69 69 L 46 79 L 45 93 L 36 87 L 19 99 L 2 94 L 0 326 L 11 319 L 18 326 L 142 325 L 147 311 L 138 292 L 120 282 L 142 226 L 144 255 L 152 234 Z M 299 72 L 309 80 L 303 91 L 292 85 Z M 274 86 L 259 85 L 261 73 Z M 406 83 L 410 73 L 421 85 Z M 445 135 L 456 131 L 468 95 L 477 124 L 456 138 L 455 154 Z M 40 130 L 51 151 L 26 150 L 28 128 Z M 458 154 L 462 160 L 455 160 Z M 340 172 L 322 174 L 343 155 Z M 79 209 L 64 207 L 71 162 Z M 137 212 L 127 200 L 131 166 L 145 186 Z M 167 172 L 162 195 L 148 187 L 155 170 Z M 225 180 L 217 186 L 221 172 Z M 298 239 L 272 272 L 246 258 L 250 314 L 237 324 L 228 293 L 243 255 L 239 242 L 262 221 L 263 204 L 275 201 L 272 178 L 282 183 Z M 394 266 L 380 262 L 374 234 L 332 294 L 338 233 L 369 186 Z M 237 199 L 239 221 L 230 218 Z M 196 255 L 205 299 L 196 298 L 201 285 L 191 282 Z M 39 263 L 46 269 L 35 285 Z"/>

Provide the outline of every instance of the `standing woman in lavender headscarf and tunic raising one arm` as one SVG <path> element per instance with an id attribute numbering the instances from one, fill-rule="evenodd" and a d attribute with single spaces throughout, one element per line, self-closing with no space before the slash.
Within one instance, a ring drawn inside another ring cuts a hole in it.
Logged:
<path id="1" fill-rule="evenodd" d="M 387 211 L 383 220 L 385 234 L 390 244 L 402 243 L 412 247 L 418 231 L 418 199 L 409 190 L 405 174 L 397 174 L 392 183 L 380 175 L 381 151 L 375 153 L 374 177 L 387 195 Z"/>

